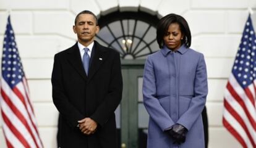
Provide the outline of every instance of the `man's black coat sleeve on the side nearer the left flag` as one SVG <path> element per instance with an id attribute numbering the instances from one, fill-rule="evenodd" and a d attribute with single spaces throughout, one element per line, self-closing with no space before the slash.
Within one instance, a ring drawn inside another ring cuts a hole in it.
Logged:
<path id="1" fill-rule="evenodd" d="M 53 103 L 71 127 L 77 127 L 77 121 L 84 116 L 77 110 L 74 105 L 70 104 L 64 92 L 62 83 L 61 63 L 58 55 L 54 56 L 53 73 L 51 75 L 51 83 L 53 86 Z"/>

